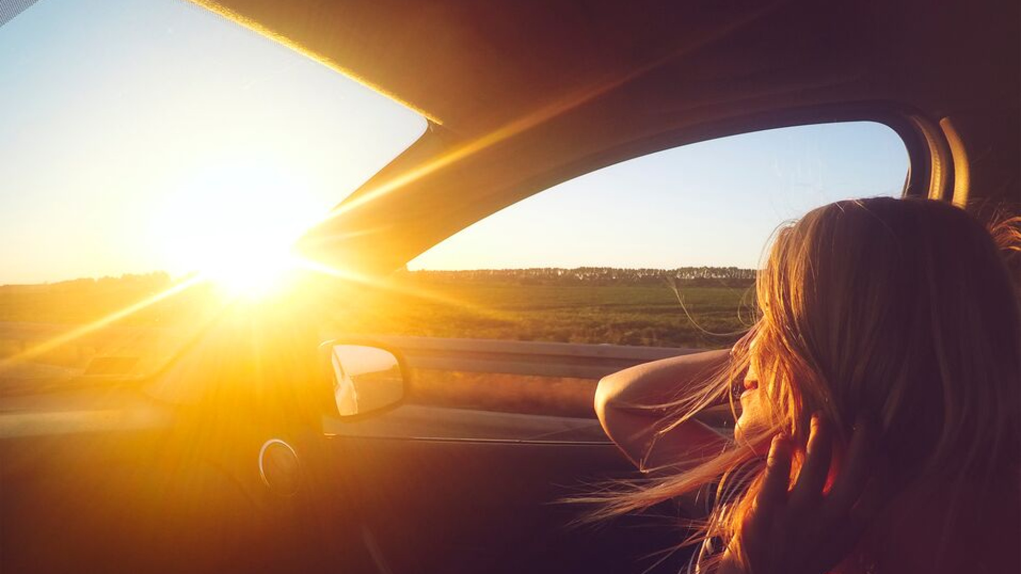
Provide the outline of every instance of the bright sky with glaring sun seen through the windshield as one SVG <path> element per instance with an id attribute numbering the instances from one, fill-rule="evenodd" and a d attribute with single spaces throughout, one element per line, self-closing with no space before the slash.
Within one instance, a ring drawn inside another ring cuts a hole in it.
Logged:
<path id="1" fill-rule="evenodd" d="M 289 243 L 426 128 L 183 0 L 40 0 L 0 28 L 0 283 Z"/>

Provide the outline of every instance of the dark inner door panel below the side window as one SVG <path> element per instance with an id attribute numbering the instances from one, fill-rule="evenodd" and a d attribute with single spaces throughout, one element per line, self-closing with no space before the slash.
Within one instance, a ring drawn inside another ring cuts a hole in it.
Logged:
<path id="1" fill-rule="evenodd" d="M 633 472 L 612 444 L 345 436 L 328 444 L 338 488 L 357 492 L 356 520 L 381 571 L 641 572 L 651 564 L 641 558 L 681 535 L 655 521 L 635 528 L 638 519 L 572 527 L 585 509 L 563 497 Z"/>

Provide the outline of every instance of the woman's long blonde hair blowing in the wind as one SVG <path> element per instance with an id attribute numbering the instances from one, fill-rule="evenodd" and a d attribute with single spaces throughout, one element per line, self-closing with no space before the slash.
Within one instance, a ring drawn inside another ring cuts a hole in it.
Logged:
<path id="1" fill-rule="evenodd" d="M 741 556 L 739 525 L 769 441 L 784 433 L 800 445 L 796 470 L 813 413 L 835 431 L 837 469 L 856 418 L 873 421 L 892 493 L 975 487 L 1005 474 L 1016 481 L 1021 319 L 1000 251 L 1017 243 L 1017 224 L 990 233 L 949 203 L 872 198 L 820 207 L 781 229 L 758 277 L 760 319 L 735 345 L 729 372 L 669 404 L 664 425 L 731 395 L 755 361 L 768 428 L 740 433 L 694 468 L 603 496 L 598 514 L 716 484 L 715 510 L 688 542 L 716 540 Z"/>

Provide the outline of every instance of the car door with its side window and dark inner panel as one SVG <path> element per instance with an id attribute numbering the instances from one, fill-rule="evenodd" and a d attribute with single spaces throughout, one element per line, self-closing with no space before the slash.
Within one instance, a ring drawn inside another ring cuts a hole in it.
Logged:
<path id="1" fill-rule="evenodd" d="M 573 526 L 592 509 L 565 498 L 636 476 L 594 419 L 596 381 L 732 344 L 777 226 L 896 196 L 906 172 L 900 138 L 870 123 L 669 149 L 546 190 L 362 286 L 332 335 L 401 355 L 406 396 L 323 429 L 380 571 L 676 571 L 691 552 L 671 552 L 689 533 L 678 508 Z M 707 422 L 728 432 L 718 415 Z"/>

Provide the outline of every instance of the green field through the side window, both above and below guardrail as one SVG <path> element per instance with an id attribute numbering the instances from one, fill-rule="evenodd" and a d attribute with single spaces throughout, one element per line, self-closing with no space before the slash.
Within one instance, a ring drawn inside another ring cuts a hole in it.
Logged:
<path id="1" fill-rule="evenodd" d="M 419 296 L 362 293 L 341 305 L 335 321 L 354 333 L 700 348 L 730 345 L 750 325 L 751 281 L 682 280 L 675 285 L 691 319 L 664 281 L 542 284 L 454 274 L 405 279 L 401 286 Z M 593 417 L 594 392 L 595 381 L 580 379 L 419 370 L 411 400 Z"/>

